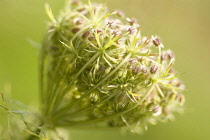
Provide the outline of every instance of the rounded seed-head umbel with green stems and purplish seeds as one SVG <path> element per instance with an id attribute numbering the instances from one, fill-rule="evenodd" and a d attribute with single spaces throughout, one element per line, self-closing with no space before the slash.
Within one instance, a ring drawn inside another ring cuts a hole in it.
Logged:
<path id="1" fill-rule="evenodd" d="M 182 111 L 184 85 L 173 52 L 144 37 L 135 19 L 100 4 L 70 2 L 52 15 L 43 41 L 44 121 L 57 126 L 107 126 L 138 132 Z"/>

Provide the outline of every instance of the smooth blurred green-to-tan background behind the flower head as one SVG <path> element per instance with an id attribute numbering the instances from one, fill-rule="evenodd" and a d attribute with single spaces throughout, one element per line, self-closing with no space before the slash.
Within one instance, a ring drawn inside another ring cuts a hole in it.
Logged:
<path id="1" fill-rule="evenodd" d="M 187 87 L 185 113 L 174 122 L 150 126 L 144 135 L 118 131 L 72 130 L 72 140 L 210 140 L 210 0 L 92 0 L 107 2 L 157 34 L 176 54 L 176 69 Z M 0 90 L 11 85 L 14 99 L 38 105 L 39 49 L 48 2 L 54 14 L 64 0 L 0 0 Z M 8 89 L 8 88 L 6 88 Z M 1 119 L 1 116 L 0 116 Z"/>

